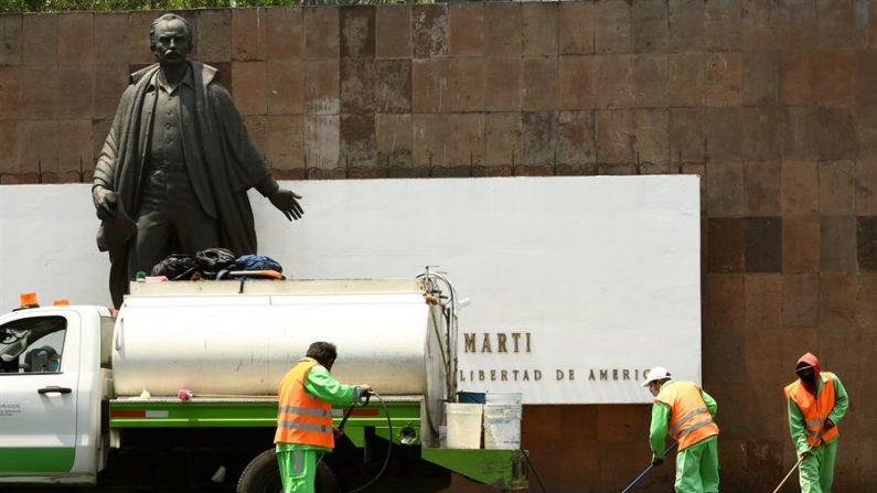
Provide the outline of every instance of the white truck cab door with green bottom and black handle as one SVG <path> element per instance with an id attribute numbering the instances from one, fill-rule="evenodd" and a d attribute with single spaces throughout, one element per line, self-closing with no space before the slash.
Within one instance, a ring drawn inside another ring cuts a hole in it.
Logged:
<path id="1" fill-rule="evenodd" d="M 0 319 L 0 475 L 57 475 L 76 454 L 79 315 Z"/>

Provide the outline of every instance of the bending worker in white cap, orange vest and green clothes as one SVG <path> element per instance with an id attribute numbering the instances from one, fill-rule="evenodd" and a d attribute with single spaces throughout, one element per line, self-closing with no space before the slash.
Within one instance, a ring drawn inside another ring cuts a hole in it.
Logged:
<path id="1" fill-rule="evenodd" d="M 694 382 L 674 381 L 663 366 L 649 371 L 643 387 L 654 397 L 649 443 L 652 464 L 663 461 L 667 433 L 678 443 L 677 493 L 718 492 L 718 405 Z"/>

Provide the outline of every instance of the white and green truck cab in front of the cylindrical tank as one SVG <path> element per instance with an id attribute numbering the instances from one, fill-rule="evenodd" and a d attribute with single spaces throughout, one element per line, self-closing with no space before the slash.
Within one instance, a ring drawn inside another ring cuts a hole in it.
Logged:
<path id="1" fill-rule="evenodd" d="M 0 315 L 0 482 L 96 481 L 110 378 L 100 340 L 111 336 L 113 323 L 103 307 Z"/>

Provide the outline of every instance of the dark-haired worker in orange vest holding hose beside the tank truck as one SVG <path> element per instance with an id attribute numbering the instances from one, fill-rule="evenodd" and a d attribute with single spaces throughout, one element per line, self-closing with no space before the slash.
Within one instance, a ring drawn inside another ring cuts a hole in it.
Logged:
<path id="1" fill-rule="evenodd" d="M 317 457 L 335 446 L 332 406 L 350 406 L 372 389 L 332 377 L 336 357 L 334 344 L 314 342 L 280 381 L 274 442 L 284 493 L 314 492 Z"/>

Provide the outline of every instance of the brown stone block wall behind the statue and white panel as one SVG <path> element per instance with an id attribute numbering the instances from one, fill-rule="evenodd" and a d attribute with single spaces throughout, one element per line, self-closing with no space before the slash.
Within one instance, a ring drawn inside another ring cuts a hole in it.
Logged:
<path id="1" fill-rule="evenodd" d="M 794 463 L 781 389 L 804 351 L 856 403 L 836 490 L 877 487 L 877 1 L 181 13 L 281 179 L 699 174 L 727 491 Z M 0 15 L 0 183 L 89 180 L 156 17 Z M 648 462 L 648 419 L 528 407 L 524 444 L 549 491 L 621 490 Z M 666 491 L 670 469 L 641 491 Z"/>

